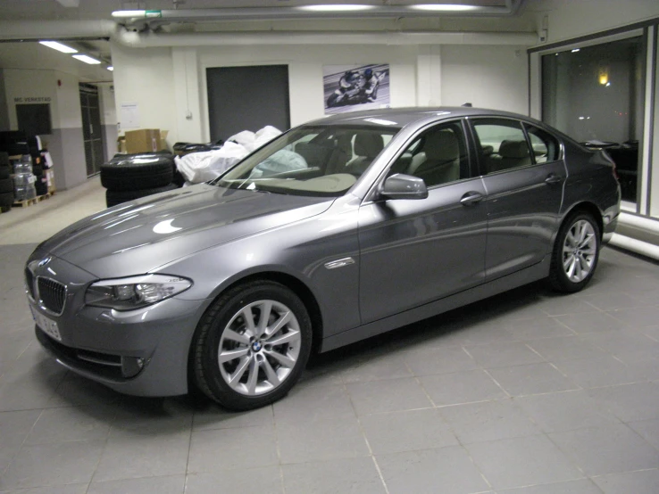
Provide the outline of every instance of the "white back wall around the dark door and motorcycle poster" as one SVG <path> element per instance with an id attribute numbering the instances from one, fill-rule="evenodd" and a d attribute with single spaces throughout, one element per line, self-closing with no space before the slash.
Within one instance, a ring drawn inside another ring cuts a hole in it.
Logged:
<path id="1" fill-rule="evenodd" d="M 388 63 L 391 106 L 466 101 L 527 112 L 525 46 L 232 45 L 127 48 L 113 45 L 118 119 L 138 103 L 140 128 L 170 130 L 168 141 L 210 138 L 206 69 L 288 65 L 291 125 L 324 115 L 323 65 Z M 124 130 L 124 128 L 121 128 Z"/>

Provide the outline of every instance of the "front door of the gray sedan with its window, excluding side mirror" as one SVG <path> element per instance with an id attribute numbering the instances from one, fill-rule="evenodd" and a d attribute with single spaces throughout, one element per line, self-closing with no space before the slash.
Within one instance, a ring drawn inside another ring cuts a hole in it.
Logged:
<path id="1" fill-rule="evenodd" d="M 361 207 L 363 323 L 483 283 L 485 189 L 472 171 L 466 144 L 461 120 L 421 131 L 388 175 L 423 178 L 429 196 L 367 202 Z"/>

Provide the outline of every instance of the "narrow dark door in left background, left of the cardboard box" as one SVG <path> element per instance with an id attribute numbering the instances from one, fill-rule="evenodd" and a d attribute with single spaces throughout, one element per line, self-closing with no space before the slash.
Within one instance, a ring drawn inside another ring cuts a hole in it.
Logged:
<path id="1" fill-rule="evenodd" d="M 98 100 L 98 87 L 81 83 L 80 111 L 82 111 L 82 139 L 85 145 L 87 176 L 92 177 L 101 171 L 105 161 L 101 110 Z"/>

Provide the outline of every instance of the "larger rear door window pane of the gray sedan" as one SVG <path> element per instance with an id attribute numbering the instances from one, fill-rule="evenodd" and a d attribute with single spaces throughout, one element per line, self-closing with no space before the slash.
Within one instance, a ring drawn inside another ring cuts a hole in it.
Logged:
<path id="1" fill-rule="evenodd" d="M 473 124 L 483 175 L 533 164 L 521 123 L 507 119 L 477 119 Z"/>

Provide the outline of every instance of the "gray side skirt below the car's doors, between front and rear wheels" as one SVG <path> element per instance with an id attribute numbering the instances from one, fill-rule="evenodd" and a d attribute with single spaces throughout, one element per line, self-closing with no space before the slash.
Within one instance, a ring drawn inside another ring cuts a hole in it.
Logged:
<path id="1" fill-rule="evenodd" d="M 428 317 L 437 316 L 442 312 L 457 309 L 464 305 L 470 304 L 475 301 L 487 299 L 497 293 L 507 292 L 513 288 L 517 288 L 523 284 L 530 284 L 534 281 L 541 280 L 549 276 L 549 265 L 551 258 L 546 256 L 541 262 L 530 266 L 529 268 L 522 269 L 512 275 L 503 276 L 492 280 L 485 284 L 480 284 L 464 292 L 455 293 L 440 299 L 438 301 L 430 302 L 415 309 L 406 310 L 400 314 L 389 316 L 378 321 L 373 321 L 367 325 L 357 326 L 353 329 L 348 329 L 342 333 L 333 334 L 324 338 L 321 342 L 321 353 L 324 351 L 334 350 L 339 347 L 349 345 L 350 343 L 359 342 L 371 336 L 381 333 L 387 333 L 397 327 L 410 325 L 427 319 Z"/>

